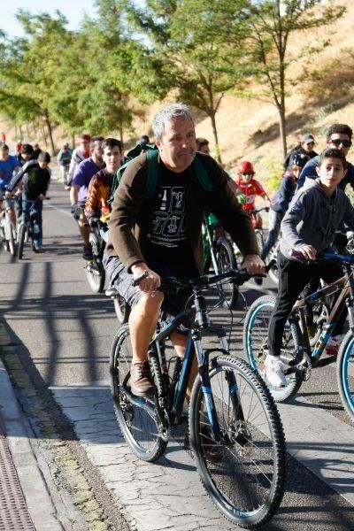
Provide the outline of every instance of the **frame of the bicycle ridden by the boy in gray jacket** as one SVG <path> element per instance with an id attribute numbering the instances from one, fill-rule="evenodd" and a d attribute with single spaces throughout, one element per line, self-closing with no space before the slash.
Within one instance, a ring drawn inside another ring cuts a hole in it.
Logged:
<path id="1" fill-rule="evenodd" d="M 341 257 L 341 255 L 333 256 L 335 258 Z M 329 258 L 329 253 L 327 253 L 327 258 Z M 327 342 L 333 334 L 335 324 L 339 319 L 345 304 L 348 307 L 350 327 L 354 327 L 354 273 L 349 264 L 342 264 L 342 267 L 344 269 L 344 275 L 340 279 L 332 282 L 325 288 L 319 289 L 311 295 L 305 296 L 304 298 L 296 301 L 296 304 L 294 305 L 294 308 L 290 314 L 290 320 L 296 318 L 296 313 L 298 314 L 298 319 L 300 321 L 300 326 L 304 335 L 305 350 L 315 362 L 319 361 L 323 351 L 326 349 Z M 337 290 L 341 290 L 341 293 L 335 301 L 335 304 L 328 316 L 327 324 L 319 335 L 319 339 L 312 350 L 309 335 L 307 334 L 306 330 L 304 310 L 306 306 L 312 306 L 316 302 L 324 300 L 326 296 L 333 295 Z"/>

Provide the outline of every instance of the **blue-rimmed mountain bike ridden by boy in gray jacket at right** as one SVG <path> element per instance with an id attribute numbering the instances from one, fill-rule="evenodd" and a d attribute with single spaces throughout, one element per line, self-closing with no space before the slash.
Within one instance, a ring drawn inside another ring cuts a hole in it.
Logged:
<path id="1" fill-rule="evenodd" d="M 354 256 L 325 252 L 319 260 L 335 260 L 342 266 L 343 276 L 324 288 L 296 301 L 284 330 L 281 359 L 288 366 L 284 371 L 287 384 L 282 388 L 269 386 L 276 402 L 284 402 L 296 395 L 303 381 L 310 378 L 312 368 L 326 366 L 334 357 L 321 359 L 329 338 L 333 335 L 335 323 L 345 306 L 348 308 L 350 330 L 344 336 L 337 356 L 337 381 L 342 404 L 350 419 L 354 421 Z M 322 314 L 319 333 L 313 344 L 306 326 L 306 309 L 316 304 L 327 305 L 327 296 L 336 291 L 340 294 L 327 312 Z M 267 335 L 275 297 L 261 296 L 247 312 L 243 327 L 245 356 L 250 365 L 265 376 L 264 361 L 268 351 Z"/>

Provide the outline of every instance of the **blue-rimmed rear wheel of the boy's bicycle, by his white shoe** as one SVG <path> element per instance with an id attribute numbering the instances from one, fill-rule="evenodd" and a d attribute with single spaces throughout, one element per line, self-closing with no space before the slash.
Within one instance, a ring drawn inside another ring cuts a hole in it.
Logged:
<path id="1" fill-rule="evenodd" d="M 268 353 L 268 328 L 271 319 L 275 297 L 260 296 L 246 314 L 243 325 L 244 356 L 250 366 L 266 380 L 264 363 Z M 296 322 L 287 323 L 284 329 L 281 346 L 281 359 L 289 364 L 294 359 L 294 353 L 301 343 L 301 330 Z M 268 383 L 275 402 L 285 402 L 296 395 L 302 384 L 299 374 L 291 373 L 286 376 L 287 384 L 282 388 L 273 388 Z"/>

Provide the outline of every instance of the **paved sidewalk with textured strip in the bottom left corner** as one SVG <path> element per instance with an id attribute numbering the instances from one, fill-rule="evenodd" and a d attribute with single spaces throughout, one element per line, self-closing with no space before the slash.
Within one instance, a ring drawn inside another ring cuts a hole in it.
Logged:
<path id="1" fill-rule="evenodd" d="M 35 457 L 33 439 L 0 360 L 0 530 L 63 530 Z"/>

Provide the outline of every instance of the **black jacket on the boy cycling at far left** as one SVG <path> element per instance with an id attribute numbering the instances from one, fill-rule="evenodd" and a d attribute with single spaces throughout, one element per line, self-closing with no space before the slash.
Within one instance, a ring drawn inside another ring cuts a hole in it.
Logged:
<path id="1" fill-rule="evenodd" d="M 41 168 L 36 159 L 28 160 L 22 166 L 19 173 L 12 177 L 7 189 L 12 192 L 13 189 L 22 180 L 22 189 L 28 199 L 35 200 L 41 194 L 45 195 L 50 184 L 50 173 Z"/>

